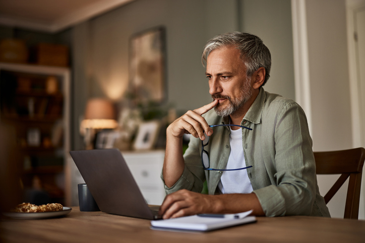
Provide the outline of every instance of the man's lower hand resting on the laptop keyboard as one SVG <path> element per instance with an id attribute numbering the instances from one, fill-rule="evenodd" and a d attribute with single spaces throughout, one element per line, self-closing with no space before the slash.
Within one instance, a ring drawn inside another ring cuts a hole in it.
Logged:
<path id="1" fill-rule="evenodd" d="M 212 195 L 204 195 L 188 190 L 179 190 L 165 197 L 159 214 L 163 219 L 194 215 L 197 213 L 212 213 L 219 211 L 219 202 Z"/>

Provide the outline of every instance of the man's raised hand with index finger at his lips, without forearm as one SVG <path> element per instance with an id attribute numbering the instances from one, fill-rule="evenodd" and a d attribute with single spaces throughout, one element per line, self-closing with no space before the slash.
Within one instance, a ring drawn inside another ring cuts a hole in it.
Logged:
<path id="1" fill-rule="evenodd" d="M 202 117 L 202 115 L 213 109 L 217 104 L 218 100 L 215 100 L 201 108 L 188 111 L 169 125 L 167 133 L 174 137 L 182 137 L 184 133 L 187 133 L 204 140 L 204 131 L 208 136 L 210 136 L 212 135 L 213 130 L 209 127 L 207 121 Z"/>

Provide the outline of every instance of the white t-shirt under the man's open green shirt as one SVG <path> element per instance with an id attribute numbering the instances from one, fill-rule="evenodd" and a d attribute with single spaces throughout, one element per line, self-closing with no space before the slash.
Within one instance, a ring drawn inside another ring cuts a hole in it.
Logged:
<path id="1" fill-rule="evenodd" d="M 244 148 L 242 147 L 242 128 L 232 130 L 229 136 L 230 153 L 228 163 L 224 169 L 238 169 L 246 167 Z M 247 170 L 223 171 L 218 183 L 222 194 L 251 193 L 253 191 Z"/>

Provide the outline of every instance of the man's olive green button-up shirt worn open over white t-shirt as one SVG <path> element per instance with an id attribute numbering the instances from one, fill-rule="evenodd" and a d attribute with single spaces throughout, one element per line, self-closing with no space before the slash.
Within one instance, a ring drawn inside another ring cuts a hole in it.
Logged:
<path id="1" fill-rule="evenodd" d="M 209 125 L 229 124 L 211 110 L 203 115 Z M 316 165 L 307 118 L 294 101 L 265 92 L 263 88 L 241 122 L 242 146 L 248 175 L 266 216 L 312 215 L 330 213 L 319 194 Z M 229 127 L 215 127 L 209 144 L 210 168 L 224 169 L 230 152 Z M 209 194 L 218 192 L 221 171 L 204 171 L 201 140 L 192 137 L 184 154 L 185 169 L 166 193 L 180 189 L 201 192 L 206 180 Z M 225 173 L 229 173 L 225 172 Z M 163 180 L 163 177 L 161 175 Z"/>

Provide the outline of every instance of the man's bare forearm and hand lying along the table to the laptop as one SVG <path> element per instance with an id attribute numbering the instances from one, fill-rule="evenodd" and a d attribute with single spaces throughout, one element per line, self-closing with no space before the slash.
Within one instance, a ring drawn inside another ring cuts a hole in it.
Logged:
<path id="1" fill-rule="evenodd" d="M 245 202 L 245 203 L 242 203 Z M 165 197 L 160 214 L 164 219 L 197 213 L 238 213 L 254 210 L 252 215 L 264 216 L 256 194 L 204 195 L 180 190 Z"/>

